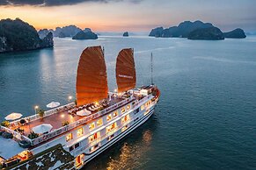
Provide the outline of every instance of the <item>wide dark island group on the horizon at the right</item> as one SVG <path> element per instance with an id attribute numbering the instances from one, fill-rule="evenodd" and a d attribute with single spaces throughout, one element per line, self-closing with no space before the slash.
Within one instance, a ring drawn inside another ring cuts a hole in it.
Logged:
<path id="1" fill-rule="evenodd" d="M 219 40 L 225 38 L 244 39 L 245 32 L 236 29 L 231 32 L 223 33 L 219 28 L 211 23 L 201 21 L 184 21 L 178 26 L 169 28 L 157 27 L 151 30 L 149 36 L 156 38 L 187 38 L 187 39 L 212 39 Z"/>

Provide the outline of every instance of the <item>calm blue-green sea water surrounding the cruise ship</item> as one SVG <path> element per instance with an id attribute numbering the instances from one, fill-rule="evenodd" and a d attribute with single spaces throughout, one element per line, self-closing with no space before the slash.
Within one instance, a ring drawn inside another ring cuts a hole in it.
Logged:
<path id="1" fill-rule="evenodd" d="M 75 96 L 86 46 L 104 46 L 109 89 L 121 48 L 135 48 L 137 85 L 162 92 L 155 114 L 85 169 L 256 169 L 256 38 L 223 41 L 55 39 L 54 49 L 0 54 L 1 120 Z"/>

